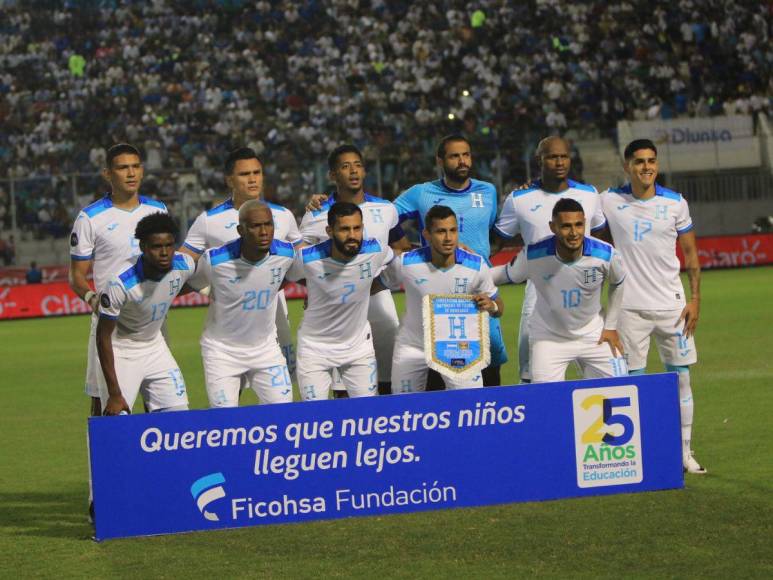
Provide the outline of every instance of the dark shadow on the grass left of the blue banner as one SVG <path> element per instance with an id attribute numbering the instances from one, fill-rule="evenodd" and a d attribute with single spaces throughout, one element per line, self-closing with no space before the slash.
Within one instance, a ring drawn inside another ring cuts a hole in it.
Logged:
<path id="1" fill-rule="evenodd" d="M 0 536 L 90 540 L 82 489 L 54 492 L 0 492 Z"/>

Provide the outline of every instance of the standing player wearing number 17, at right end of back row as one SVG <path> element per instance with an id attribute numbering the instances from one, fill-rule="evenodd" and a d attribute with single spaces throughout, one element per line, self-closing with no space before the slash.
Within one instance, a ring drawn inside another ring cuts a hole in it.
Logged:
<path id="1" fill-rule="evenodd" d="M 658 185 L 658 150 L 648 139 L 637 139 L 624 152 L 630 182 L 601 195 L 615 247 L 630 271 L 626 284 L 620 334 L 631 374 L 643 374 L 650 337 L 660 360 L 679 376 L 682 420 L 682 460 L 688 473 L 706 469 L 691 448 L 694 413 L 690 365 L 698 360 L 695 329 L 700 312 L 700 261 L 687 201 Z M 679 278 L 676 243 L 684 253 L 690 300 Z"/>

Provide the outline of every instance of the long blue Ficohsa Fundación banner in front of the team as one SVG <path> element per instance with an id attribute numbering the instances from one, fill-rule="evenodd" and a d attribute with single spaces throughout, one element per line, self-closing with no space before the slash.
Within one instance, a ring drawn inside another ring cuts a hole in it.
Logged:
<path id="1" fill-rule="evenodd" d="M 96 539 L 684 485 L 673 373 L 89 420 Z"/>

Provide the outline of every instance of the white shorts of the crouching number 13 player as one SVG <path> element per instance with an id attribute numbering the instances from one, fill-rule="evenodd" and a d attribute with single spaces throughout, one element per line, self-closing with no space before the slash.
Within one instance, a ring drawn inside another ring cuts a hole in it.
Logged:
<path id="1" fill-rule="evenodd" d="M 130 409 L 140 393 L 151 412 L 188 406 L 185 380 L 160 332 L 150 342 L 121 341 L 113 337 L 113 359 L 118 386 Z M 102 373 L 99 379 L 99 397 L 104 410 L 107 383 Z"/>

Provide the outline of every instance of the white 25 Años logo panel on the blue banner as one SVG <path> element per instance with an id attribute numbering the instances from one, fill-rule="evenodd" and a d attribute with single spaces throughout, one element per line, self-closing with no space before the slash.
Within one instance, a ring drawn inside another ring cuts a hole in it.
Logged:
<path id="1" fill-rule="evenodd" d="M 644 466 L 636 386 L 576 389 L 572 401 L 577 485 L 641 482 Z"/>

